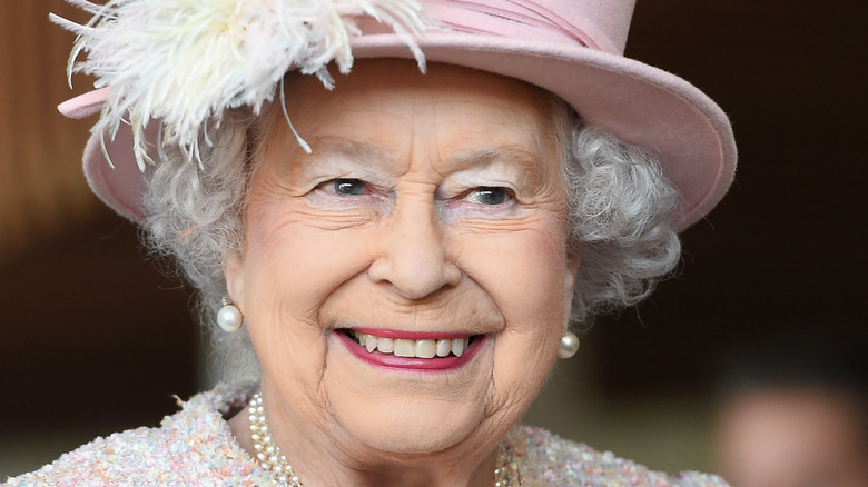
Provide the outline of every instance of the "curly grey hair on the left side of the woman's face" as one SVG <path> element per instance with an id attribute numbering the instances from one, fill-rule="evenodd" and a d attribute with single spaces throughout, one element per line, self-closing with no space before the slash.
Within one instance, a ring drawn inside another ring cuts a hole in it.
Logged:
<path id="1" fill-rule="evenodd" d="M 244 245 L 247 183 L 265 130 L 260 117 L 248 111 L 225 112 L 209 133 L 211 143 L 199 145 L 200 165 L 167 147 L 146 175 L 142 197 L 148 216 L 141 225 L 142 238 L 151 251 L 174 261 L 198 291 L 199 320 L 210 336 L 221 375 L 230 380 L 258 376 L 247 327 L 224 332 L 216 316 L 228 295 L 224 265 L 240 255 Z"/>

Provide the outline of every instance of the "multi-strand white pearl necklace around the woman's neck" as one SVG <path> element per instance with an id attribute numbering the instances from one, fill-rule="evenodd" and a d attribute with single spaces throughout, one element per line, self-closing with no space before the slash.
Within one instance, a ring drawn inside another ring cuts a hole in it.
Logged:
<path id="1" fill-rule="evenodd" d="M 303 487 L 302 480 L 295 475 L 295 470 L 280 453 L 280 447 L 274 443 L 268 429 L 268 418 L 265 416 L 263 392 L 254 394 L 250 398 L 250 439 L 256 450 L 256 459 L 259 465 L 270 474 L 278 487 Z M 501 447 L 497 454 L 497 467 L 494 469 L 494 487 L 510 486 L 513 474 L 517 474 L 515 463 L 511 461 L 511 455 L 506 448 Z"/>

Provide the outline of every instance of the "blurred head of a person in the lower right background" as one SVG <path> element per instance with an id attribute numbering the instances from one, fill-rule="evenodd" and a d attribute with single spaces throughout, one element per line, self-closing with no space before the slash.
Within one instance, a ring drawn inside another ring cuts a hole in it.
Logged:
<path id="1" fill-rule="evenodd" d="M 729 369 L 716 435 L 720 474 L 739 487 L 868 486 L 864 358 L 770 349 Z"/>

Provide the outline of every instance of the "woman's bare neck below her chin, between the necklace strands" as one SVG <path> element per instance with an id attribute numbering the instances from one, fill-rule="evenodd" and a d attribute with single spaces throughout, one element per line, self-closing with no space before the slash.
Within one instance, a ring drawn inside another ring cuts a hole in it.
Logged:
<path id="1" fill-rule="evenodd" d="M 305 487 L 353 486 L 465 486 L 490 487 L 497 465 L 500 441 L 487 449 L 457 445 L 425 455 L 395 455 L 342 441 L 322 429 L 297 427 L 293 420 L 272 421 L 272 435 Z M 307 425 L 304 425 L 307 426 Z M 229 427 L 250 458 L 256 458 L 250 440 L 248 410 L 229 419 Z M 486 455 L 474 455 L 487 451 Z M 468 453 L 471 453 L 468 455 Z"/>

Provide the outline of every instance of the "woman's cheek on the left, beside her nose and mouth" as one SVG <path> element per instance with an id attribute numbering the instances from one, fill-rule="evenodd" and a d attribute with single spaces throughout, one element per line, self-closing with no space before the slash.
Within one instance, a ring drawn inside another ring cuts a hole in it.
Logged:
<path id="1" fill-rule="evenodd" d="M 328 345 L 320 307 L 366 268 L 368 246 L 361 232 L 323 229 L 294 205 L 251 202 L 241 306 L 263 380 L 316 408 Z"/>

